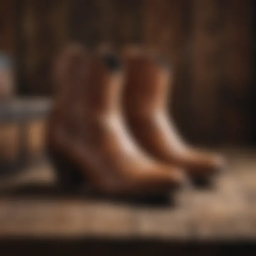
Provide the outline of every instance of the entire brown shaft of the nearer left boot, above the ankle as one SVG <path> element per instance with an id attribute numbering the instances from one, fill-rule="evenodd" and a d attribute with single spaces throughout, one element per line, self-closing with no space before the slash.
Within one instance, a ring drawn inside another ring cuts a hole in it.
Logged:
<path id="1" fill-rule="evenodd" d="M 123 69 L 112 53 L 64 49 L 55 63 L 55 103 L 50 117 L 72 140 L 101 142 L 102 122 L 121 118 Z"/>

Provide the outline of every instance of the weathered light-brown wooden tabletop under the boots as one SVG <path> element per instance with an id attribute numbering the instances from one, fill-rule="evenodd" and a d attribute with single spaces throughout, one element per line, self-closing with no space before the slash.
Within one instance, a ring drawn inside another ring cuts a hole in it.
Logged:
<path id="1" fill-rule="evenodd" d="M 255 152 L 227 151 L 214 188 L 189 187 L 175 205 L 154 206 L 65 194 L 44 162 L 0 182 L 0 237 L 255 238 Z"/>

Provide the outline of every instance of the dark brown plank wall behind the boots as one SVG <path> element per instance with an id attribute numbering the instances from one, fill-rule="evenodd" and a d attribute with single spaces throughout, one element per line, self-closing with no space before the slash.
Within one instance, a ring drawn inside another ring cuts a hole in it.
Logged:
<path id="1" fill-rule="evenodd" d="M 51 94 L 50 63 L 69 40 L 89 48 L 142 43 L 172 62 L 170 110 L 187 139 L 252 142 L 252 0 L 1 0 L 1 6 L 0 48 L 15 53 L 20 94 Z"/>

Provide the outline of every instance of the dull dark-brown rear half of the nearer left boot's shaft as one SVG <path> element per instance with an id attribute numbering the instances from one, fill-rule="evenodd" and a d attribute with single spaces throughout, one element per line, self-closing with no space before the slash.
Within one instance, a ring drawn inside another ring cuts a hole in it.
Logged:
<path id="1" fill-rule="evenodd" d="M 87 77 L 86 60 L 85 49 L 71 44 L 59 53 L 53 66 L 54 106 L 50 123 L 70 135 L 78 133 L 84 114 L 81 91 Z"/>

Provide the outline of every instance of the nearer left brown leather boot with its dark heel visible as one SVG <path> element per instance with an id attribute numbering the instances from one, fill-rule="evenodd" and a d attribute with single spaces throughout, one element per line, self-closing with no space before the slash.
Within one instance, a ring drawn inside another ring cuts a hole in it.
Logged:
<path id="1" fill-rule="evenodd" d="M 113 54 L 66 50 L 57 65 L 59 88 L 49 123 L 49 149 L 60 181 L 85 178 L 98 191 L 158 194 L 180 187 L 178 167 L 153 160 L 131 137 L 121 110 L 123 68 Z M 62 162 L 69 162 L 69 169 Z"/>

